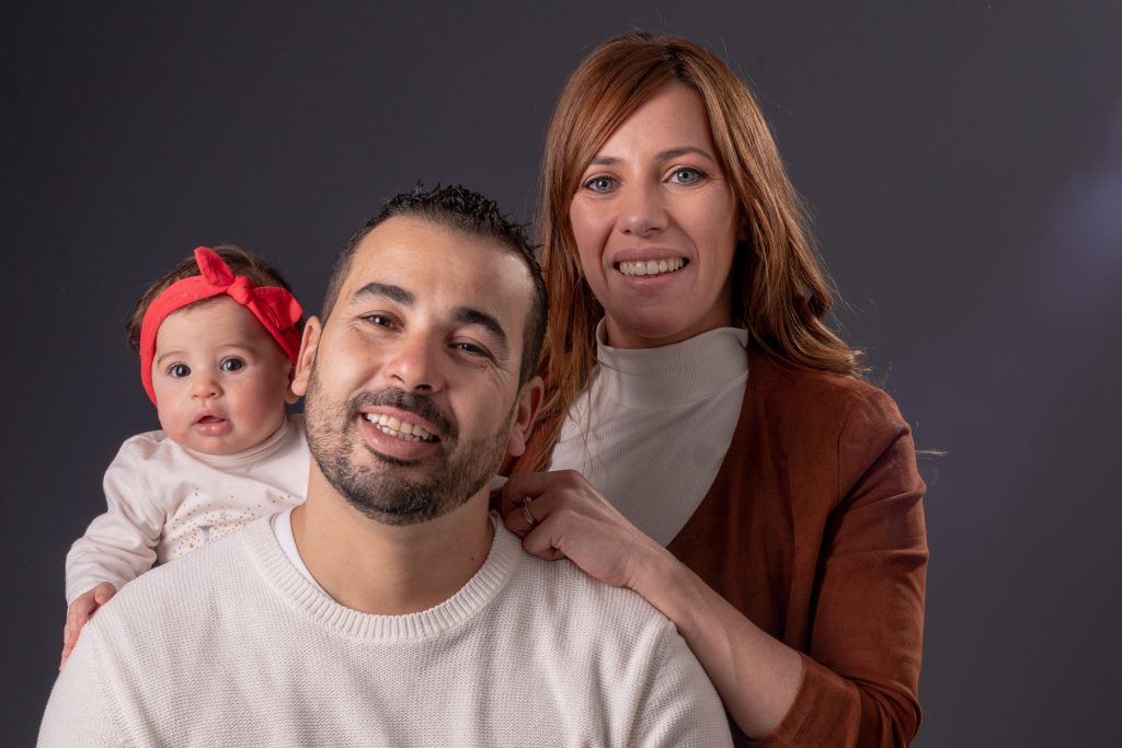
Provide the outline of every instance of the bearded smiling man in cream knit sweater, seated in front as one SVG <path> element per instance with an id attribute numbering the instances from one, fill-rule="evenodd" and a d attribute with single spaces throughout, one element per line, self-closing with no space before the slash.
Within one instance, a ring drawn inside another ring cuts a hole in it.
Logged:
<path id="1" fill-rule="evenodd" d="M 530 556 L 488 512 L 542 397 L 544 318 L 494 203 L 387 203 L 305 330 L 306 502 L 122 589 L 40 744 L 728 744 L 665 618 Z"/>

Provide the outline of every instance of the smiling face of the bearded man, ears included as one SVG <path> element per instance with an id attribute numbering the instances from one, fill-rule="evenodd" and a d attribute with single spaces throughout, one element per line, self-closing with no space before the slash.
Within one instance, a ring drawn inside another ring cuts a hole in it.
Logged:
<path id="1" fill-rule="evenodd" d="M 532 294 L 495 240 L 412 216 L 362 240 L 327 323 L 309 321 L 293 384 L 335 491 L 378 521 L 424 521 L 521 453 L 541 387 L 518 388 Z"/>

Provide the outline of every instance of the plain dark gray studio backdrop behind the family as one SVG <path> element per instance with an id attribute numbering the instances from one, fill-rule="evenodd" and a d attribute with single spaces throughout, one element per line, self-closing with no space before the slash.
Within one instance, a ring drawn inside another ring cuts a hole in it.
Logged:
<path id="1" fill-rule="evenodd" d="M 917 745 L 1119 742 L 1120 3 L 67 4 L 3 31 L 7 745 L 37 729 L 101 473 L 156 427 L 122 339 L 145 284 L 228 240 L 314 310 L 417 179 L 531 220 L 562 82 L 635 27 L 751 82 L 839 322 L 947 451 L 922 462 Z"/>

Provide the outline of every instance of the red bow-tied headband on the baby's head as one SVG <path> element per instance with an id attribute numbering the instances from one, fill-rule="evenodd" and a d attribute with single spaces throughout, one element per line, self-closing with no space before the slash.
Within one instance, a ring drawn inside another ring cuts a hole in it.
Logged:
<path id="1" fill-rule="evenodd" d="M 195 262 L 201 275 L 176 280 L 148 305 L 140 324 L 140 381 L 153 405 L 156 390 L 151 386 L 151 361 L 156 358 L 156 333 L 167 315 L 184 306 L 227 294 L 254 313 L 269 331 L 292 362 L 300 353 L 300 331 L 296 323 L 304 311 L 291 293 L 279 286 L 257 286 L 246 276 L 236 276 L 222 258 L 209 247 L 195 249 Z"/>

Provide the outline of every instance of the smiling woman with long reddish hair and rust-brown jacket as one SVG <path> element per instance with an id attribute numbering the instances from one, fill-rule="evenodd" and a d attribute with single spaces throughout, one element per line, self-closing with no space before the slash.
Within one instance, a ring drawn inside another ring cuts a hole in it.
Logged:
<path id="1" fill-rule="evenodd" d="M 673 620 L 739 740 L 907 744 L 923 484 L 894 403 L 822 324 L 751 93 L 688 41 L 613 39 L 561 94 L 543 184 L 548 396 L 507 525 Z"/>

